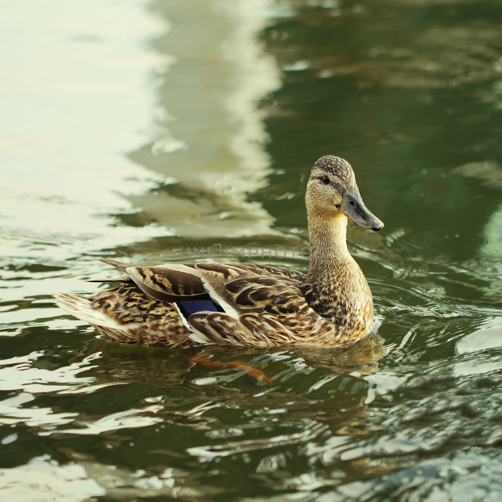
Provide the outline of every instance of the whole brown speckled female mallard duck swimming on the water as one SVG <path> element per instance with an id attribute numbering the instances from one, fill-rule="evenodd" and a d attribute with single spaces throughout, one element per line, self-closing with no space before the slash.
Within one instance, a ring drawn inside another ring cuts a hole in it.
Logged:
<path id="1" fill-rule="evenodd" d="M 102 260 L 127 274 L 115 280 L 120 286 L 91 296 L 57 294 L 56 304 L 126 343 L 352 344 L 373 325 L 373 300 L 347 250 L 347 218 L 371 230 L 384 224 L 363 204 L 352 167 L 339 157 L 314 164 L 305 201 L 307 275 L 264 265 L 135 267 Z"/>

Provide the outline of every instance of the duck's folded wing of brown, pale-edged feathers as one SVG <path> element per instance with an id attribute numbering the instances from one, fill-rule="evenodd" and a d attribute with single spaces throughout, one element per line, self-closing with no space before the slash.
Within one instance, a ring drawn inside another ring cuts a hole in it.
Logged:
<path id="1" fill-rule="evenodd" d="M 193 332 L 192 339 L 199 343 L 270 346 L 298 342 L 319 320 L 301 294 L 299 273 L 212 263 L 110 265 L 125 271 L 147 295 L 175 304 Z M 209 308 L 204 298 L 210 300 Z M 203 300 L 199 311 L 183 308 L 187 301 L 197 299 Z"/>

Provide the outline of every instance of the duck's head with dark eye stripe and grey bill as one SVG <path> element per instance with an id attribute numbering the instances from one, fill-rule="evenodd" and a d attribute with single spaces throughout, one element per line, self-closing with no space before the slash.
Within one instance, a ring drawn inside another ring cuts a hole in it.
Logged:
<path id="1" fill-rule="evenodd" d="M 362 202 L 352 166 L 340 157 L 325 155 L 312 168 L 307 193 L 307 208 L 328 216 L 344 214 L 354 225 L 378 231 L 384 228 Z"/>

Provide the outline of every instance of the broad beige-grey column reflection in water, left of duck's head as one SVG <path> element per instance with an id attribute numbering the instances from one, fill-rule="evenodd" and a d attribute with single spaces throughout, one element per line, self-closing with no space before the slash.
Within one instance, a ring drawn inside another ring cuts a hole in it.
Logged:
<path id="1" fill-rule="evenodd" d="M 196 70 L 187 72 L 186 67 L 174 65 L 165 76 L 167 91 L 161 99 L 178 115 L 178 121 L 165 129 L 167 143 L 176 139 L 187 150 L 173 151 L 152 168 L 203 195 L 192 199 L 159 192 L 157 197 L 132 199 L 180 235 L 279 234 L 271 228 L 274 218 L 262 204 L 247 200 L 247 194 L 267 185 L 270 172 L 264 146 L 266 113 L 258 103 L 281 85 L 274 58 L 258 40 L 271 4 L 271 0 L 186 4 L 185 30 L 176 35 L 172 51 Z M 194 9 L 195 18 L 204 16 L 203 26 L 193 21 Z M 201 30 L 207 30 L 206 38 L 194 43 Z M 176 85 L 180 80 L 186 85 Z M 148 158 L 144 162 L 148 164 Z"/>

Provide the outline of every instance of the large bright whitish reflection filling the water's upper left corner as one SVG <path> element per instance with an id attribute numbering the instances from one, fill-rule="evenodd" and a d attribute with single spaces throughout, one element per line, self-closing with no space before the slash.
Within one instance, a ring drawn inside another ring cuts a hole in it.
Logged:
<path id="1" fill-rule="evenodd" d="M 137 2 L 35 2 L 30 16 L 10 5 L 0 20 L 5 254 L 64 260 L 164 235 L 156 225 L 109 226 L 109 215 L 135 210 L 121 194 L 160 181 L 119 153 L 145 141 L 145 75 L 160 56 L 143 41 L 164 25 Z M 91 41 L 80 36 L 87 33 Z M 20 229 L 26 238 L 16 236 Z"/>

